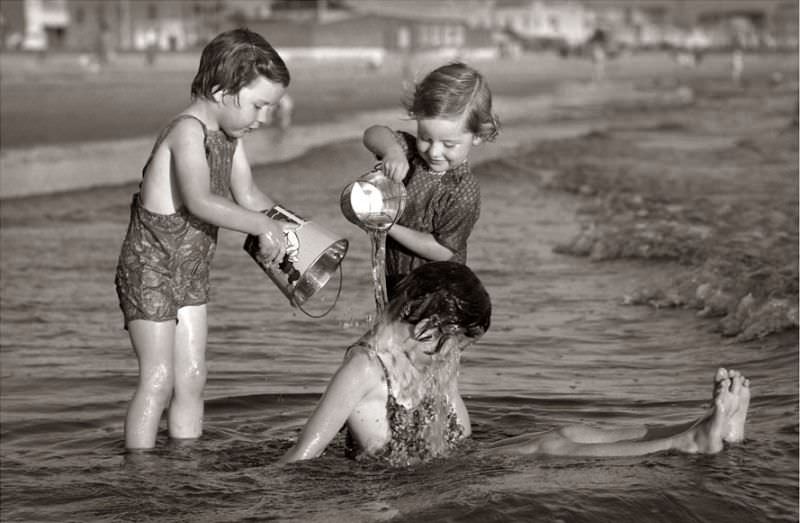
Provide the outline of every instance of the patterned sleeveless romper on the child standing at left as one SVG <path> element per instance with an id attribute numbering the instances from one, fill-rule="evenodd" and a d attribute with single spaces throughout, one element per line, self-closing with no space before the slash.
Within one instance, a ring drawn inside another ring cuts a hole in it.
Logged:
<path id="1" fill-rule="evenodd" d="M 236 139 L 223 131 L 209 131 L 191 115 L 180 115 L 158 136 L 142 172 L 175 124 L 194 118 L 203 126 L 211 192 L 230 197 L 231 165 Z M 133 196 L 128 232 L 122 243 L 116 273 L 117 295 L 125 327 L 133 320 L 177 321 L 178 309 L 208 303 L 209 269 L 217 246 L 216 225 L 206 223 L 182 207 L 158 214 Z"/>

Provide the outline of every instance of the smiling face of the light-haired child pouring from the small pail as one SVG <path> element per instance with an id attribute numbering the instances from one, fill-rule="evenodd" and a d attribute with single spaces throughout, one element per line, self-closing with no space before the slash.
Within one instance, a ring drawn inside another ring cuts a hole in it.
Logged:
<path id="1" fill-rule="evenodd" d="M 417 152 L 428 167 L 444 172 L 459 166 L 480 138 L 466 131 L 464 119 L 429 118 L 417 120 Z"/>

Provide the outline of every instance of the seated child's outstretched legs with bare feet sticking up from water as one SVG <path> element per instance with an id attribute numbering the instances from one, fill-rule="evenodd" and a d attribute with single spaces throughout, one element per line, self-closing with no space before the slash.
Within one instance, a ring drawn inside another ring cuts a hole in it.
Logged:
<path id="1" fill-rule="evenodd" d="M 740 373 L 725 369 L 719 369 L 714 379 L 714 407 L 693 423 L 655 430 L 570 426 L 544 434 L 510 438 L 493 445 L 492 449 L 516 454 L 571 456 L 638 456 L 673 449 L 690 453 L 719 452 L 723 440 L 729 441 L 727 437 L 744 434 L 750 382 Z"/>

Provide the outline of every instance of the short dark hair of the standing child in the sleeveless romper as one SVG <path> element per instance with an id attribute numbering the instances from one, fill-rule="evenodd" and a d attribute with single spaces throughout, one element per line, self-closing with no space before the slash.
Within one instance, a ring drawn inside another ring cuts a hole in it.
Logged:
<path id="1" fill-rule="evenodd" d="M 220 33 L 203 48 L 192 99 L 210 99 L 218 91 L 236 95 L 259 76 L 284 87 L 290 81 L 283 59 L 261 35 L 245 28 Z"/>

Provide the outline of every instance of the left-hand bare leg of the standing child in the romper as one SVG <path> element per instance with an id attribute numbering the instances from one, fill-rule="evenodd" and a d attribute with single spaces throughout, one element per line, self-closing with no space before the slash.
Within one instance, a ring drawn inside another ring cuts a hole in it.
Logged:
<path id="1" fill-rule="evenodd" d="M 175 322 L 134 320 L 128 333 L 139 360 L 139 383 L 125 417 L 125 447 L 151 449 L 172 394 Z"/>

